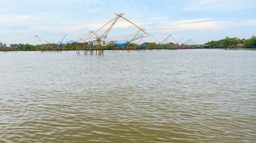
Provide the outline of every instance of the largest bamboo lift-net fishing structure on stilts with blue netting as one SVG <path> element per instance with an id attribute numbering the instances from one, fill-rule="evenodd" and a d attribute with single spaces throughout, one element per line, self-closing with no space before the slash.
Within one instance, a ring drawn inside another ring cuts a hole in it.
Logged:
<path id="1" fill-rule="evenodd" d="M 150 37 L 155 39 L 152 35 L 150 35 L 144 29 L 139 28 L 136 24 L 132 23 L 131 21 L 123 17 L 124 13 L 120 13 L 120 14 L 115 13 L 115 14 L 117 15 L 117 17 L 115 17 L 114 19 L 104 24 L 101 28 L 99 28 L 95 32 L 89 31 L 85 35 L 82 35 L 81 37 L 79 37 L 74 42 L 74 44 L 76 44 L 76 54 L 80 54 L 79 52 L 80 50 L 84 50 L 83 52 L 84 54 L 87 54 L 88 52 L 92 54 L 95 51 L 96 53 L 102 54 L 102 55 L 103 55 L 103 50 L 117 50 L 117 49 L 133 50 L 135 49 L 136 46 L 129 45 L 132 41 L 135 41 L 143 37 Z M 133 26 L 137 27 L 139 30 L 128 36 L 109 37 L 110 30 L 114 27 L 117 20 L 119 20 L 120 18 L 126 20 L 127 22 L 130 22 Z M 103 27 L 107 26 L 108 24 L 110 24 L 110 26 L 107 28 L 107 30 L 101 33 L 100 30 L 102 30 Z M 80 46 L 83 46 L 83 48 L 81 48 Z"/>

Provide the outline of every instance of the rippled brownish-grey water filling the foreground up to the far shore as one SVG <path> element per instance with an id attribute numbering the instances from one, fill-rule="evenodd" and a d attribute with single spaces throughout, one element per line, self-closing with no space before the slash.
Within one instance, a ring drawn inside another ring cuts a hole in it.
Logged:
<path id="1" fill-rule="evenodd" d="M 0 52 L 0 143 L 255 143 L 255 65 L 255 50 Z"/>

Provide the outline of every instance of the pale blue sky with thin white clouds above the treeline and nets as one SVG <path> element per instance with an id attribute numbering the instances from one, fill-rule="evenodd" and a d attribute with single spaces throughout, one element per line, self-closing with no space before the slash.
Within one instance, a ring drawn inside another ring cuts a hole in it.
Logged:
<path id="1" fill-rule="evenodd" d="M 256 0 L 1 0 L 0 42 L 9 46 L 76 41 L 98 29 L 102 35 L 115 13 L 123 13 L 149 34 L 134 43 L 204 44 L 256 35 Z M 124 18 L 108 36 L 139 30 Z"/>

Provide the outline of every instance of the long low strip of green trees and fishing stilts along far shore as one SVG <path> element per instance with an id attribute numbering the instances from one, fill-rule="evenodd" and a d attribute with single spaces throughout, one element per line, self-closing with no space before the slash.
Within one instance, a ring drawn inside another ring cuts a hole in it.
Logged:
<path id="1" fill-rule="evenodd" d="M 225 48 L 225 49 L 255 49 L 256 48 L 256 36 L 252 36 L 250 39 L 239 39 L 237 37 L 221 39 L 218 41 L 208 41 L 204 45 L 181 45 L 175 43 L 157 44 L 153 43 L 142 43 L 137 45 L 136 43 L 128 43 L 124 46 L 118 46 L 113 43 L 109 44 L 90 44 L 90 43 L 68 43 L 68 44 L 56 44 L 47 43 L 41 45 L 29 45 L 29 44 L 10 44 L 7 46 L 0 42 L 0 51 L 41 51 L 41 52 L 61 52 L 63 50 L 84 50 L 84 53 L 103 50 L 178 50 L 178 49 L 203 49 L 203 48 Z M 79 53 L 78 53 L 79 54 Z"/>

